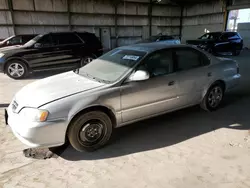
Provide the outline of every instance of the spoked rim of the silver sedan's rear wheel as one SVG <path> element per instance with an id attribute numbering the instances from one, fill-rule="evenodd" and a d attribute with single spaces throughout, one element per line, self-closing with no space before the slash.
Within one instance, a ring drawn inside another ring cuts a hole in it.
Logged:
<path id="1" fill-rule="evenodd" d="M 214 87 L 208 95 L 208 104 L 215 108 L 217 107 L 223 97 L 223 91 L 220 87 Z"/>

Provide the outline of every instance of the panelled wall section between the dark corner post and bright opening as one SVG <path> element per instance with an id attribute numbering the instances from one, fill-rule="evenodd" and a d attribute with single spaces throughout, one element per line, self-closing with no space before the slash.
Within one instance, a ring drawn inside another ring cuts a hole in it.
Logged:
<path id="1" fill-rule="evenodd" d="M 224 30 L 224 12 L 221 1 L 201 3 L 184 8 L 182 42 L 196 39 L 207 31 Z"/>

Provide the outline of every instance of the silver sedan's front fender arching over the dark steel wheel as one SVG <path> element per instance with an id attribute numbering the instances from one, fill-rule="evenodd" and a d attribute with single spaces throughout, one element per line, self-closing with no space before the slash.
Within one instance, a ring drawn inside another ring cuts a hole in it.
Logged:
<path id="1" fill-rule="evenodd" d="M 116 116 L 117 123 L 120 122 L 120 87 L 105 87 L 101 90 L 79 93 L 43 105 L 40 108 L 49 111 L 48 121 L 62 119 L 67 127 L 76 114 L 93 106 L 103 106 L 110 109 Z"/>

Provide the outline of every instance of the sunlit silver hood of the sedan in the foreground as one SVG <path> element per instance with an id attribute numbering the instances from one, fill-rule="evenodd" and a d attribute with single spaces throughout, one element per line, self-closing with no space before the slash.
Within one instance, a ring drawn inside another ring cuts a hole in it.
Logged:
<path id="1" fill-rule="evenodd" d="M 80 92 L 89 91 L 105 85 L 73 71 L 51 76 L 24 86 L 15 96 L 18 109 L 38 108 L 44 104 L 59 100 Z"/>

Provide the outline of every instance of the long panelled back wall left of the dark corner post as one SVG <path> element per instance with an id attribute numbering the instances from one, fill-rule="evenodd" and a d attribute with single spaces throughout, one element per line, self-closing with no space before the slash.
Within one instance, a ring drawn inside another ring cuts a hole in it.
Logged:
<path id="1" fill-rule="evenodd" d="M 179 35 L 181 8 L 167 0 L 152 6 L 150 0 L 127 0 L 115 6 L 105 0 L 0 0 L 0 38 L 24 33 L 89 31 L 100 36 L 110 28 L 112 48 L 158 33 Z M 168 3 L 168 4 L 167 4 Z"/>

